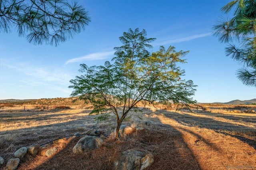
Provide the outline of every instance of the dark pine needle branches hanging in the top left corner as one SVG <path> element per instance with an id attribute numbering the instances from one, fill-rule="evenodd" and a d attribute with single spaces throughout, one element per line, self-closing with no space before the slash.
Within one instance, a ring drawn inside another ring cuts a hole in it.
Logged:
<path id="1" fill-rule="evenodd" d="M 16 26 L 30 43 L 65 42 L 90 22 L 88 12 L 66 0 L 0 0 L 0 32 Z M 27 33 L 28 32 L 28 33 Z"/>

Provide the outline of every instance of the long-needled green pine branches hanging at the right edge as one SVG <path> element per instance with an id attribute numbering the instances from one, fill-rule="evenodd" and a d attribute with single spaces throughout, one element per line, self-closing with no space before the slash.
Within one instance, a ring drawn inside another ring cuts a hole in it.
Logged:
<path id="1" fill-rule="evenodd" d="M 234 16 L 214 26 L 214 35 L 220 42 L 237 43 L 226 47 L 226 55 L 243 64 L 238 79 L 245 85 L 256 87 L 256 0 L 234 0 L 221 8 Z"/>

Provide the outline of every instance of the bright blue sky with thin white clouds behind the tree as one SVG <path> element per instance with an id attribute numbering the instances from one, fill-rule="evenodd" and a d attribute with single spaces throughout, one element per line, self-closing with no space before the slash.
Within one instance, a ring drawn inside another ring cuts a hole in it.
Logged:
<path id="1" fill-rule="evenodd" d="M 58 47 L 33 45 L 26 38 L 0 33 L 0 99 L 69 97 L 70 79 L 80 63 L 103 65 L 114 57 L 113 47 L 129 28 L 147 31 L 156 38 L 150 51 L 170 45 L 176 51 L 190 51 L 188 63 L 180 65 L 186 80 L 198 85 L 198 102 L 228 102 L 256 98 L 255 87 L 236 77 L 239 63 L 225 56 L 226 44 L 212 36 L 212 26 L 229 0 L 78 0 L 92 22 L 86 30 Z"/>

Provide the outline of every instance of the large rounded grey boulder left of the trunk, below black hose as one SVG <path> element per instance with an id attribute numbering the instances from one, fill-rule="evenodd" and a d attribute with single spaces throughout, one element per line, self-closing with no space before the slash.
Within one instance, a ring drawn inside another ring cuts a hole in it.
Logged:
<path id="1" fill-rule="evenodd" d="M 88 150 L 100 148 L 102 144 L 102 138 L 96 136 L 85 136 L 83 138 L 80 138 L 80 140 L 77 142 L 76 146 L 74 146 L 72 151 L 74 153 L 82 153 Z"/>

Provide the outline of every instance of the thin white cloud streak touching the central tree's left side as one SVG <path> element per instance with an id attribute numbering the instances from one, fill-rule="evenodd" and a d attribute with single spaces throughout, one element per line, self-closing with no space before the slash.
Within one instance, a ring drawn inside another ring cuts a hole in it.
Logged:
<path id="1" fill-rule="evenodd" d="M 76 62 L 81 62 L 84 60 L 101 60 L 101 59 L 106 59 L 108 56 L 113 55 L 114 51 L 109 51 L 109 52 L 98 52 L 98 53 L 91 53 L 88 55 L 84 55 L 82 57 L 77 57 L 77 58 L 72 58 L 66 61 L 65 65 L 68 63 L 76 63 Z"/>

